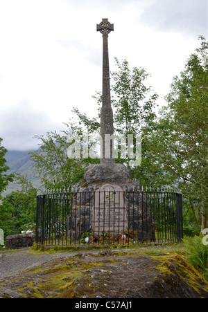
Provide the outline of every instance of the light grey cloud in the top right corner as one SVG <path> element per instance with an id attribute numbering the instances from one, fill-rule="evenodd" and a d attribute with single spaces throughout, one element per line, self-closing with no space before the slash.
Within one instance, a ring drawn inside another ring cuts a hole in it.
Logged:
<path id="1" fill-rule="evenodd" d="M 146 8 L 140 21 L 157 30 L 198 37 L 207 35 L 207 15 L 207 0 L 156 0 Z"/>

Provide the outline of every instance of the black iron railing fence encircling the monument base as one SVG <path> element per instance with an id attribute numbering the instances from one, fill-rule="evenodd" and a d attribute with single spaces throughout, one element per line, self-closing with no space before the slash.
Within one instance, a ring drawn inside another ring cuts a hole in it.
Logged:
<path id="1" fill-rule="evenodd" d="M 87 189 L 37 196 L 39 244 L 164 244 L 182 237 L 182 194 L 173 190 Z"/>

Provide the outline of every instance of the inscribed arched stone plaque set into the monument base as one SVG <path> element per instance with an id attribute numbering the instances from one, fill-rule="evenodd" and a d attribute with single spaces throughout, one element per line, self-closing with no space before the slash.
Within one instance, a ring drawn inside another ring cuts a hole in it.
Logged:
<path id="1" fill-rule="evenodd" d="M 120 186 L 105 184 L 99 192 L 95 192 L 93 218 L 95 232 L 125 231 L 125 205 Z"/>

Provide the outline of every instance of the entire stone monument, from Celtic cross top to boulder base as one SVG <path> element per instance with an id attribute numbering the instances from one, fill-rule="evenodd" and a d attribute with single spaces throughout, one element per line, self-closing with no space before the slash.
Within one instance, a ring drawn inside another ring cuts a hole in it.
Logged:
<path id="1" fill-rule="evenodd" d="M 154 240 L 155 230 L 145 196 L 139 197 L 141 186 L 130 179 L 123 164 L 115 163 L 113 111 L 110 98 L 108 35 L 114 25 L 103 19 L 97 31 L 103 35 L 103 102 L 101 107 L 100 164 L 85 169 L 84 179 L 73 190 L 73 207 L 69 218 L 69 236 L 80 239 L 84 233 L 94 235 L 112 232 L 123 235 L 135 232 L 137 239 Z M 145 229 L 145 230 L 144 230 Z M 88 234 L 86 234 L 88 235 Z"/>

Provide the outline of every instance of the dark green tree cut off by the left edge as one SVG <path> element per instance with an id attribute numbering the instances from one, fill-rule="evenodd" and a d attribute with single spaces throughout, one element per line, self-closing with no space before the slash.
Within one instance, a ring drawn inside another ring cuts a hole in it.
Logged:
<path id="1" fill-rule="evenodd" d="M 6 187 L 9 182 L 12 182 L 13 175 L 12 174 L 6 174 L 8 169 L 8 165 L 6 165 L 6 159 L 4 156 L 7 153 L 7 149 L 3 146 L 1 146 L 2 138 L 0 138 L 0 199 L 1 199 L 1 193 L 6 190 Z"/>

